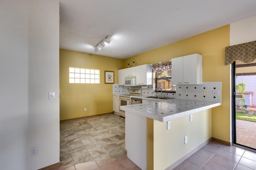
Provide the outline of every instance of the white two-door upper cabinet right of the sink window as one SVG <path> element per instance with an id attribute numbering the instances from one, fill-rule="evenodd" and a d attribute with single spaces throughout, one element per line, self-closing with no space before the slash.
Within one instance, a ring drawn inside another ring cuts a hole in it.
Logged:
<path id="1" fill-rule="evenodd" d="M 172 84 L 202 84 L 202 55 L 172 59 Z"/>

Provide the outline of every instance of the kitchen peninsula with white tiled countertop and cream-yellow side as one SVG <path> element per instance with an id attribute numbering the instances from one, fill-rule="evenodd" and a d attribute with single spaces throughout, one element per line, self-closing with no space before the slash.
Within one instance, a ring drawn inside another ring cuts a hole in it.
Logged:
<path id="1" fill-rule="evenodd" d="M 142 170 L 174 168 L 180 159 L 211 140 L 211 108 L 220 105 L 221 102 L 176 98 L 122 106 L 126 112 L 128 158 Z"/>

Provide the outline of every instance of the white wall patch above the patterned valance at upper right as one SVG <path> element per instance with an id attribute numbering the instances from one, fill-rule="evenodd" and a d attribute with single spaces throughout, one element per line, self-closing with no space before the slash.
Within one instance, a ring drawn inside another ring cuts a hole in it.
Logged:
<path id="1" fill-rule="evenodd" d="M 256 41 L 256 16 L 230 24 L 230 45 Z"/>

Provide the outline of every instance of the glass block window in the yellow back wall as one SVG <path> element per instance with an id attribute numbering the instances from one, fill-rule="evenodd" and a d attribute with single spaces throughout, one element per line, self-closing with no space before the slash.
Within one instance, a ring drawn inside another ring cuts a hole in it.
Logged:
<path id="1" fill-rule="evenodd" d="M 100 84 L 100 70 L 70 67 L 69 83 Z"/>

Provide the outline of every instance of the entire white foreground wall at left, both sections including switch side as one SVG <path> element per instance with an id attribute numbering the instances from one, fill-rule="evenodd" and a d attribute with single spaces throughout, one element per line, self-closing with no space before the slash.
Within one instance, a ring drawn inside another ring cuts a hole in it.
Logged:
<path id="1" fill-rule="evenodd" d="M 58 0 L 1 1 L 0 48 L 1 168 L 59 162 Z M 38 155 L 30 157 L 35 146 Z"/>

